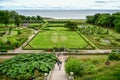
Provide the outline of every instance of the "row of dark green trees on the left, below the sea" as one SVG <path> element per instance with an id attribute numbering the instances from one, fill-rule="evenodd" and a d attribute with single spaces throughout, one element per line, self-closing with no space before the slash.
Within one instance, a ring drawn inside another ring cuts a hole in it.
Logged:
<path id="1" fill-rule="evenodd" d="M 0 24 L 5 24 L 5 26 L 8 26 L 8 24 L 14 23 L 16 26 L 20 26 L 21 23 L 24 23 L 24 21 L 43 21 L 43 18 L 41 16 L 24 16 L 19 15 L 15 11 L 8 11 L 8 10 L 0 10 Z"/>

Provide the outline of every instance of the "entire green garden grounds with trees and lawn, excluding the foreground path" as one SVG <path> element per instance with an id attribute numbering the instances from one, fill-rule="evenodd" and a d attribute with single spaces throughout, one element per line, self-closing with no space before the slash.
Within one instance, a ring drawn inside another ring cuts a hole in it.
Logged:
<path id="1" fill-rule="evenodd" d="M 68 53 L 63 55 L 67 57 L 63 67 L 68 76 L 72 72 L 75 80 L 120 80 L 118 14 L 66 20 L 0 11 L 0 80 L 29 80 L 31 77 L 43 80 L 44 73 L 53 70 L 57 61 L 54 54 L 59 52 Z M 22 53 L 15 53 L 17 48 Z M 26 50 L 29 52 L 24 54 Z M 31 50 L 43 52 L 36 54 Z M 82 50 L 111 50 L 111 53 L 81 55 Z"/>

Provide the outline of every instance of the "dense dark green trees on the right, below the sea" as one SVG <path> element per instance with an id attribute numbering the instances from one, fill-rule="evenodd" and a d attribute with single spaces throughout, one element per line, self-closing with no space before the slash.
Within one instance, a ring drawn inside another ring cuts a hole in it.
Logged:
<path id="1" fill-rule="evenodd" d="M 120 12 L 109 13 L 97 13 L 93 16 L 87 16 L 86 22 L 93 25 L 99 25 L 106 28 L 113 28 L 116 32 L 120 33 Z"/>

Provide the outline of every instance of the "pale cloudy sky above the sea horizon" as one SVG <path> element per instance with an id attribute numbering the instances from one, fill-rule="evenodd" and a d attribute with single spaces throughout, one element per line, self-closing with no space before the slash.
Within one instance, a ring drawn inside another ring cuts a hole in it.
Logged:
<path id="1" fill-rule="evenodd" d="M 0 9 L 5 10 L 120 10 L 120 0 L 0 0 Z"/>

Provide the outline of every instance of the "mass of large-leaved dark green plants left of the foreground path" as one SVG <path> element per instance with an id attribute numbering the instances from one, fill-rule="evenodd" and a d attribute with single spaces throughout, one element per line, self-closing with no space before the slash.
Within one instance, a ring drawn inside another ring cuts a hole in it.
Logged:
<path id="1" fill-rule="evenodd" d="M 56 62 L 54 54 L 21 54 L 0 64 L 0 74 L 12 79 L 29 79 L 40 73 L 49 73 Z"/>

